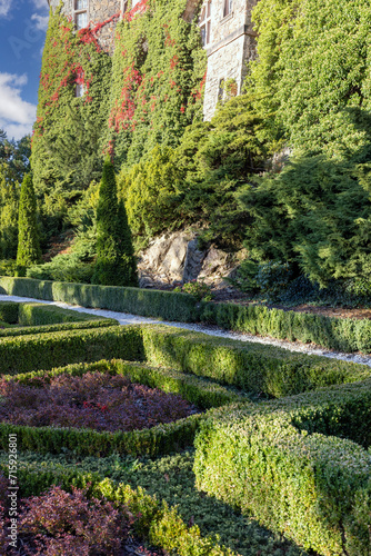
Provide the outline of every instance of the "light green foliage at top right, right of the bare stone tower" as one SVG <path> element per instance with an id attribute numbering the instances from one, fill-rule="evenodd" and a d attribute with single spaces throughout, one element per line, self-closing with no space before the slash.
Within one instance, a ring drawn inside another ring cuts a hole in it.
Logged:
<path id="1" fill-rule="evenodd" d="M 274 110 L 290 146 L 347 157 L 360 135 L 347 108 L 371 107 L 367 0 L 260 0 L 250 86 Z"/>

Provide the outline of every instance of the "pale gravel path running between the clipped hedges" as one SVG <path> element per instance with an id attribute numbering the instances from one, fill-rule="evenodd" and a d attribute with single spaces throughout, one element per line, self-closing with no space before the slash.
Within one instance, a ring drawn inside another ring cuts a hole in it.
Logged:
<path id="1" fill-rule="evenodd" d="M 342 359 L 345 361 L 353 361 L 353 363 L 361 363 L 363 365 L 368 365 L 371 367 L 371 355 L 363 355 L 363 354 L 344 354 L 341 351 L 333 351 L 329 349 L 324 349 L 318 346 L 312 346 L 308 344 L 302 344 L 300 341 L 287 341 L 287 340 L 279 340 L 275 338 L 269 338 L 269 337 L 260 337 L 260 336 L 252 336 L 251 334 L 240 334 L 240 332 L 231 332 L 228 330 L 223 330 L 218 327 L 208 327 L 204 325 L 190 325 L 186 322 L 170 322 L 167 320 L 157 320 L 153 318 L 148 318 L 148 317 L 140 317 L 139 315 L 130 315 L 128 312 L 116 312 L 116 311 L 109 311 L 104 309 L 87 309 L 86 307 L 80 307 L 78 305 L 69 305 L 60 301 L 44 301 L 42 299 L 32 299 L 30 297 L 17 297 L 17 296 L 4 296 L 0 295 L 0 301 L 34 301 L 34 302 L 40 302 L 40 304 L 47 304 L 47 305 L 56 305 L 57 307 L 61 307 L 62 309 L 72 309 L 78 312 L 87 312 L 88 315 L 96 315 L 100 317 L 108 317 L 108 318 L 114 318 L 118 320 L 118 322 L 122 326 L 127 325 L 140 325 L 140 324 L 147 324 L 147 325 L 166 325 L 166 326 L 173 326 L 177 328 L 184 328 L 186 330 L 193 330 L 198 332 L 203 332 L 208 334 L 209 336 L 218 336 L 221 338 L 230 338 L 233 340 L 241 340 L 241 341 L 253 341 L 257 344 L 265 344 L 269 346 L 277 346 L 281 347 L 283 349 L 288 349 L 290 351 L 298 351 L 301 354 L 309 354 L 309 355 L 321 355 L 324 357 L 333 358 L 333 359 Z"/>

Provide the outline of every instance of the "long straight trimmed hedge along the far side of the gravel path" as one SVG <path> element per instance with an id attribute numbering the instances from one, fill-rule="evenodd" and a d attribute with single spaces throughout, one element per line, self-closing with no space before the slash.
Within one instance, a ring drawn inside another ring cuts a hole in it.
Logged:
<path id="1" fill-rule="evenodd" d="M 200 321 L 228 330 L 272 338 L 313 342 L 329 349 L 371 353 L 371 320 L 334 318 L 269 309 L 261 305 L 198 304 L 194 297 L 173 291 L 53 282 L 0 277 L 2 294 L 131 312 L 148 317 Z"/>

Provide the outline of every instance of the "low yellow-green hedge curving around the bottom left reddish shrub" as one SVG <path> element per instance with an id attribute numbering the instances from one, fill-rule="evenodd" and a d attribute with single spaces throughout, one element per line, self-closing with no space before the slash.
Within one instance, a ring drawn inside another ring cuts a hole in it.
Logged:
<path id="1" fill-rule="evenodd" d="M 8 476 L 6 466 L 0 466 Z M 142 488 L 133 490 L 129 485 L 117 484 L 97 474 L 62 470 L 58 476 L 41 469 L 36 474 L 27 468 L 18 469 L 19 496 L 40 496 L 53 485 L 67 492 L 72 487 L 88 488 L 90 497 L 104 498 L 118 505 L 124 505 L 139 519 L 134 525 L 140 539 L 152 546 L 179 556 L 233 556 L 231 549 L 220 546 L 211 537 L 202 537 L 197 525 L 189 527 L 174 508 L 152 498 Z"/>

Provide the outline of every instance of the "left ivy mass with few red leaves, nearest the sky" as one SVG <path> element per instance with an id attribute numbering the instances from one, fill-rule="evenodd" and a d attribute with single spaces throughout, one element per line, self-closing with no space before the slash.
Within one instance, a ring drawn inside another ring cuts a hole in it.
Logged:
<path id="1" fill-rule="evenodd" d="M 111 58 L 98 38 L 102 27 L 116 17 L 119 14 L 76 31 L 61 7 L 50 13 L 32 137 L 38 193 L 52 195 L 60 182 L 66 197 L 69 189 L 86 189 L 91 179 L 99 178 Z"/>

